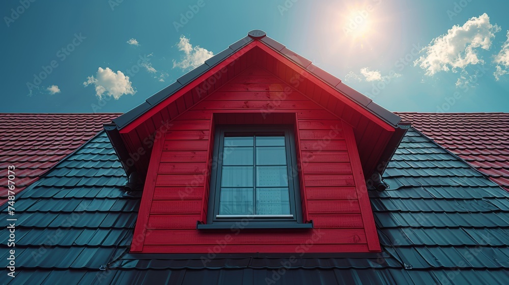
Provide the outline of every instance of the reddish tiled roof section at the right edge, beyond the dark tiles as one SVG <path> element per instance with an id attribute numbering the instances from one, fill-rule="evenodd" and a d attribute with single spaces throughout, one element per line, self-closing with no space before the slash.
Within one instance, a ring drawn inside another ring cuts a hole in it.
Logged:
<path id="1" fill-rule="evenodd" d="M 509 113 L 398 115 L 509 191 Z"/>

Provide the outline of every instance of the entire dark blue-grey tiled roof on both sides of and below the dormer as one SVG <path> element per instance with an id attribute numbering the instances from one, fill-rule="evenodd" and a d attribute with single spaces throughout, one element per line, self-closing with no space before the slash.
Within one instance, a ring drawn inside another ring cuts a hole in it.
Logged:
<path id="1" fill-rule="evenodd" d="M 210 262 L 203 262 L 201 255 L 124 254 L 139 200 L 122 195 L 124 172 L 101 133 L 19 195 L 17 277 L 8 281 L 505 283 L 508 192 L 413 129 L 384 177 L 390 188 L 370 191 L 384 251 L 378 255 L 305 255 L 291 263 L 288 257 L 258 253 L 223 255 Z M 0 234 L 3 249 L 7 234 Z M 5 260 L 7 250 L 0 252 Z M 102 265 L 108 269 L 99 270 Z"/>

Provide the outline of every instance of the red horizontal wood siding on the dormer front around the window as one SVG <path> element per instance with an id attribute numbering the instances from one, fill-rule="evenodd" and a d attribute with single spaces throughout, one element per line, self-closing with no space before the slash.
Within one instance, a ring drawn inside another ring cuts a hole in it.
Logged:
<path id="1" fill-rule="evenodd" d="M 295 125 L 303 217 L 315 229 L 196 230 L 206 221 L 214 125 L 225 123 Z M 133 252 L 209 253 L 221 243 L 221 253 L 380 250 L 350 126 L 262 68 L 190 107 L 158 143 L 135 232 L 147 233 Z"/>

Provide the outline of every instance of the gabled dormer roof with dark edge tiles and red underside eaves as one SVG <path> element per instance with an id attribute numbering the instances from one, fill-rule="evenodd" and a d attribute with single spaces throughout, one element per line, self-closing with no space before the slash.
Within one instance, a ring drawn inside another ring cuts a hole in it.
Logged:
<path id="1" fill-rule="evenodd" d="M 204 97 L 229 84 L 250 68 L 261 68 L 286 83 L 285 90 L 301 93 L 325 111 L 351 125 L 357 139 L 364 177 L 382 173 L 386 162 L 401 141 L 408 125 L 370 98 L 348 87 L 341 79 L 323 71 L 284 45 L 254 30 L 226 50 L 105 126 L 110 140 L 128 174 L 146 177 L 151 149 L 144 143 L 167 122 L 200 104 Z M 298 80 L 296 80 L 298 79 Z M 302 79 L 302 80 L 300 80 Z M 297 82 L 295 82 L 297 81 Z M 261 86 L 237 86 L 245 90 Z M 262 91 L 284 94 L 281 86 L 264 86 Z M 249 103 L 249 101 L 247 101 Z M 275 109 L 273 104 L 245 104 L 249 112 Z M 376 134 L 372 139 L 366 133 Z M 133 160 L 130 154 L 138 153 Z M 138 157 L 139 156 L 139 157 Z"/>

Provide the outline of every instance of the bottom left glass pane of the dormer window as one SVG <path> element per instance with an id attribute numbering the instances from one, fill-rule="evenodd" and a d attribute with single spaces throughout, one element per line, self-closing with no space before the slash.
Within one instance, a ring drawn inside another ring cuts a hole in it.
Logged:
<path id="1" fill-rule="evenodd" d="M 221 188 L 219 215 L 253 215 L 252 188 Z"/>

